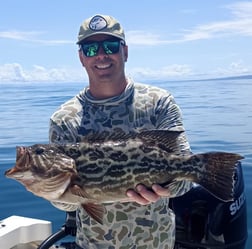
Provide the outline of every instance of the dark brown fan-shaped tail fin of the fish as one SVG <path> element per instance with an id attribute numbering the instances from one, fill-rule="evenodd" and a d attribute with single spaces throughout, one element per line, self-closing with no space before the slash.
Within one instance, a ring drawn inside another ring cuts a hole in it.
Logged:
<path id="1" fill-rule="evenodd" d="M 206 170 L 202 173 L 199 184 L 218 199 L 233 200 L 235 169 L 237 162 L 243 157 L 239 154 L 226 152 L 211 152 L 194 156 L 197 159 L 201 158 Z"/>

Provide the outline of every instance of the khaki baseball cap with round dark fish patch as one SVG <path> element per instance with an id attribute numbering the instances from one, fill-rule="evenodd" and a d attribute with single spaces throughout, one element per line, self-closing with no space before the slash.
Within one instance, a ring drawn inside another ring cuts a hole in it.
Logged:
<path id="1" fill-rule="evenodd" d="M 85 20 L 80 26 L 77 44 L 90 36 L 98 34 L 111 35 L 125 41 L 124 30 L 114 17 L 95 15 Z"/>

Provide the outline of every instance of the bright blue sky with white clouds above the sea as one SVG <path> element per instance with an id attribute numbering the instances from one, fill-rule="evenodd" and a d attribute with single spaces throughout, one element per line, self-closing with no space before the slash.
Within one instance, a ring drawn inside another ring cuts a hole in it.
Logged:
<path id="1" fill-rule="evenodd" d="M 83 82 L 79 27 L 114 16 L 137 81 L 252 74 L 252 1 L 8 0 L 0 8 L 1 82 Z"/>

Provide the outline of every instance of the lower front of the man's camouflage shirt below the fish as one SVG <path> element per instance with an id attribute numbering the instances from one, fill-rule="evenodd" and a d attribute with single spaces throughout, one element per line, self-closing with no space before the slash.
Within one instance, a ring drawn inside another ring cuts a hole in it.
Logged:
<path id="1" fill-rule="evenodd" d="M 76 243 L 89 249 L 171 249 L 175 242 L 175 217 L 167 208 L 168 202 L 165 198 L 147 206 L 136 203 L 109 205 L 103 225 L 78 209 L 81 224 Z"/>

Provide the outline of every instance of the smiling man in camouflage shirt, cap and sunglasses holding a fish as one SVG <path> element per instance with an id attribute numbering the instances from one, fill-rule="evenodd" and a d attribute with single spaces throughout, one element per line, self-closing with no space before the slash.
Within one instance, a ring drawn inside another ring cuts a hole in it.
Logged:
<path id="1" fill-rule="evenodd" d="M 91 134 L 129 133 L 147 129 L 181 131 L 180 150 L 190 153 L 179 107 L 173 96 L 160 88 L 135 83 L 125 75 L 128 47 L 116 19 L 95 15 L 83 22 L 77 44 L 89 85 L 64 103 L 51 117 L 50 142 L 81 142 Z M 56 204 L 77 210 L 76 244 L 79 248 L 166 248 L 175 240 L 175 218 L 167 197 L 190 189 L 187 182 L 152 190 L 138 184 L 128 190 L 132 201 L 106 205 L 103 224 L 79 206 Z"/>

